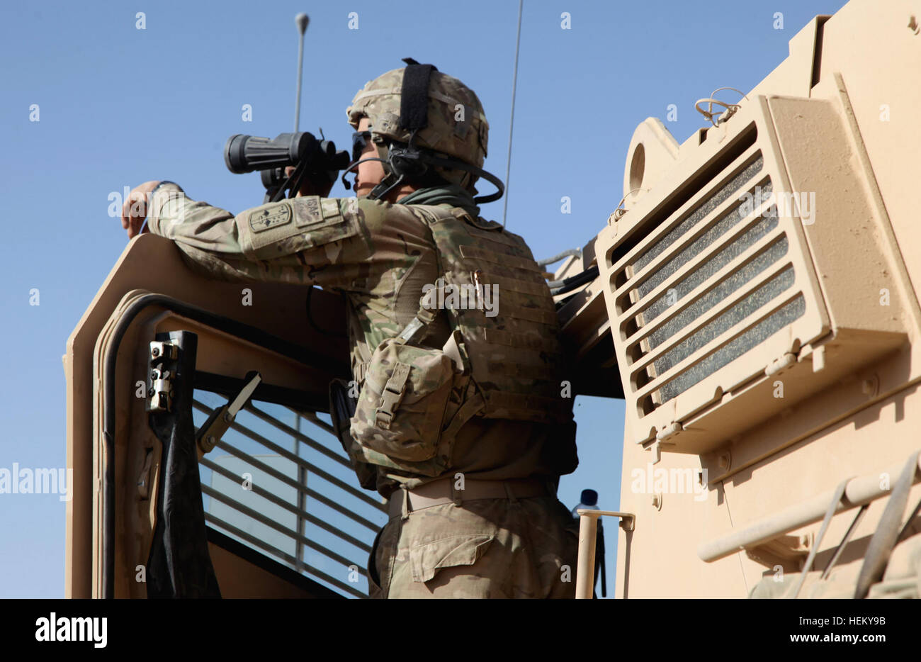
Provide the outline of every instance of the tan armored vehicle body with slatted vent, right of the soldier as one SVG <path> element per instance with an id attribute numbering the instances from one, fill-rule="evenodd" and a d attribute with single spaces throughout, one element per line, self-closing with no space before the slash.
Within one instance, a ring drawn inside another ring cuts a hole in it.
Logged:
<path id="1" fill-rule="evenodd" d="M 814 18 L 681 145 L 639 124 L 557 273 L 597 266 L 560 314 L 624 389 L 618 597 L 918 597 L 918 10 Z"/>

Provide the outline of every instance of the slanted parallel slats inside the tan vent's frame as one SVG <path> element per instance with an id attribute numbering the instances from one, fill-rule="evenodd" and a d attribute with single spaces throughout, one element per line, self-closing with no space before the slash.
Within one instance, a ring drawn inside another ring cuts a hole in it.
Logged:
<path id="1" fill-rule="evenodd" d="M 644 414 L 805 312 L 801 295 L 784 298 L 796 268 L 785 259 L 789 238 L 774 204 L 774 182 L 753 140 L 720 175 L 724 183 L 701 186 L 689 209 L 669 219 L 669 231 L 645 250 L 640 243 L 635 258 L 613 272 L 613 281 L 622 283 L 614 295 L 626 318 L 622 339 Z M 738 328 L 745 321 L 748 328 Z M 732 329 L 737 333 L 725 337 Z M 657 387 L 643 388 L 647 384 Z"/>

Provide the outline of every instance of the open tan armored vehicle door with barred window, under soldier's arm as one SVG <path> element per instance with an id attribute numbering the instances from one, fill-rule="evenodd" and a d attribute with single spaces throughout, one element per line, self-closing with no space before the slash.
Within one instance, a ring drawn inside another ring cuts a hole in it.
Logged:
<path id="1" fill-rule="evenodd" d="M 64 372 L 67 597 L 367 596 L 386 514 L 328 416 L 349 378 L 339 297 L 204 278 L 144 234 Z"/>

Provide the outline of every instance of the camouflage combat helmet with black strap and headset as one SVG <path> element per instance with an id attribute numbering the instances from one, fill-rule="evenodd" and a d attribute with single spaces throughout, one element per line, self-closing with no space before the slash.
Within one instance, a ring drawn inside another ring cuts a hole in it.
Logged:
<path id="1" fill-rule="evenodd" d="M 362 117 L 368 118 L 384 165 L 386 176 L 368 197 L 381 198 L 399 183 L 430 178 L 434 171 L 440 179 L 472 193 L 482 176 L 498 190 L 475 198 L 476 202 L 500 198 L 502 182 L 483 170 L 489 123 L 476 93 L 435 65 L 420 65 L 412 58 L 403 61 L 407 66 L 368 81 L 345 110 L 356 129 Z"/>

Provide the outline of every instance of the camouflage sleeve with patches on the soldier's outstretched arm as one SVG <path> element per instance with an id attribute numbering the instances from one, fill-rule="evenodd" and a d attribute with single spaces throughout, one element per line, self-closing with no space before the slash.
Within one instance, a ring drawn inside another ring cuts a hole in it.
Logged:
<path id="1" fill-rule="evenodd" d="M 236 217 L 161 186 L 151 232 L 177 242 L 186 262 L 211 278 L 274 281 L 349 290 L 367 271 L 389 203 L 316 195 L 253 207 Z M 378 237 L 378 242 L 381 237 Z"/>

